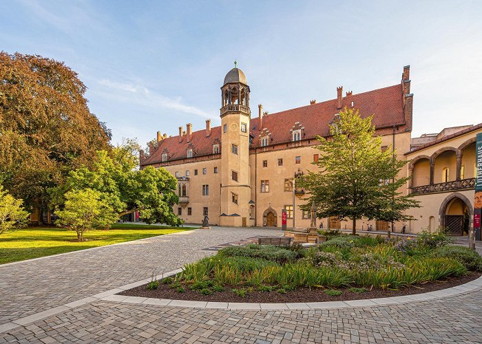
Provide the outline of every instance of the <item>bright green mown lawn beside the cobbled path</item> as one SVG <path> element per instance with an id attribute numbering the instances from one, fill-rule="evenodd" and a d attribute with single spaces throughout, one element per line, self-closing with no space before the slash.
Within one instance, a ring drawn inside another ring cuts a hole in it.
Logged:
<path id="1" fill-rule="evenodd" d="M 55 227 L 29 227 L 0 235 L 0 264 L 22 261 L 58 253 L 85 250 L 124 241 L 155 237 L 191 230 L 195 227 L 114 224 L 109 230 L 92 230 L 78 242 L 72 230 Z"/>

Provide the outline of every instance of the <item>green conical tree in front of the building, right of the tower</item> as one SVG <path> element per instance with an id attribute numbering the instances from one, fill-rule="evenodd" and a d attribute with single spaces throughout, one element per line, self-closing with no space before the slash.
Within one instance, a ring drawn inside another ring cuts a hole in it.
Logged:
<path id="1" fill-rule="evenodd" d="M 381 150 L 381 137 L 373 137 L 372 116 L 361 118 L 358 111 L 344 109 L 330 127 L 331 138 L 317 137 L 321 151 L 313 164 L 317 172 L 300 178 L 300 186 L 310 193 L 317 217 L 349 218 L 356 233 L 357 219 L 400 221 L 412 219 L 404 211 L 418 207 L 412 195 L 399 189 L 408 178 L 399 172 L 406 162 L 397 160 L 390 149 Z"/>

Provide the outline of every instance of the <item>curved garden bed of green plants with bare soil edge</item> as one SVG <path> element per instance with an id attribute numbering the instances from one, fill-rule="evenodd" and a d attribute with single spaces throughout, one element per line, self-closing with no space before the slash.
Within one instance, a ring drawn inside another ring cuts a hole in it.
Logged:
<path id="1" fill-rule="evenodd" d="M 223 302 L 314 302 L 418 294 L 481 276 L 482 257 L 442 232 L 383 239 L 333 235 L 315 248 L 231 246 L 124 295 Z"/>

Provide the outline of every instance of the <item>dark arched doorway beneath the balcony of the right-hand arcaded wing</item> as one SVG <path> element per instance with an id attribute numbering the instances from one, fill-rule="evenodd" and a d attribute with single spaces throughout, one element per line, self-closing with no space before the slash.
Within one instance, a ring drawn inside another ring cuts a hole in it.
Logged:
<path id="1" fill-rule="evenodd" d="M 440 206 L 441 226 L 449 235 L 467 235 L 472 216 L 470 201 L 461 193 L 448 196 Z"/>

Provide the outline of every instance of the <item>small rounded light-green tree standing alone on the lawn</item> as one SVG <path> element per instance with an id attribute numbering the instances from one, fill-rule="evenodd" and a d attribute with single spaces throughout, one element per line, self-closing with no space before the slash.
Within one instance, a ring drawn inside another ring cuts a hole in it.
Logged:
<path id="1" fill-rule="evenodd" d="M 103 196 L 92 189 L 69 191 L 65 194 L 63 210 L 56 212 L 59 216 L 56 224 L 75 230 L 78 241 L 83 241 L 87 230 L 109 227 L 116 221 L 116 213 Z"/>

